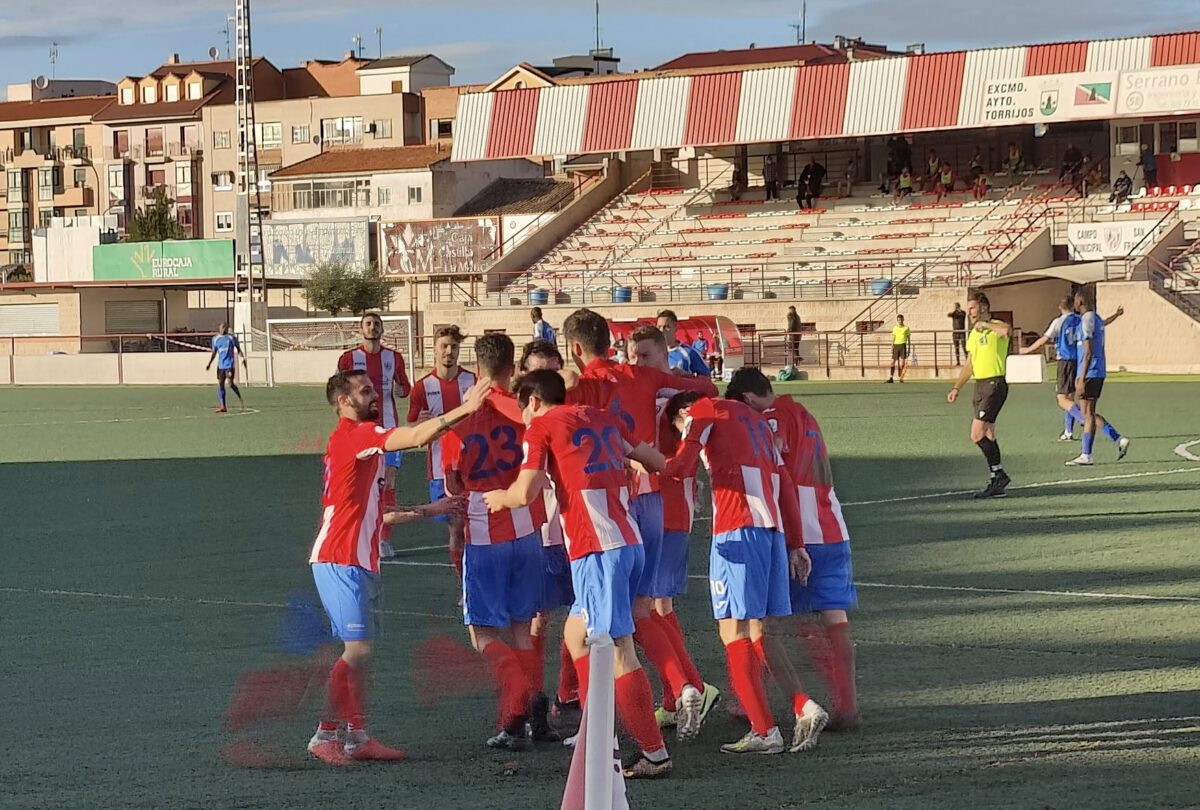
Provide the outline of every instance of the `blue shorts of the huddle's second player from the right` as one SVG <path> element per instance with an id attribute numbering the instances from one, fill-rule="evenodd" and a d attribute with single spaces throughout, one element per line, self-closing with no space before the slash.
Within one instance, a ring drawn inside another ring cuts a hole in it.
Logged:
<path id="1" fill-rule="evenodd" d="M 782 532 L 745 528 L 713 538 L 708 558 L 713 618 L 790 616 L 788 582 L 787 544 Z"/>

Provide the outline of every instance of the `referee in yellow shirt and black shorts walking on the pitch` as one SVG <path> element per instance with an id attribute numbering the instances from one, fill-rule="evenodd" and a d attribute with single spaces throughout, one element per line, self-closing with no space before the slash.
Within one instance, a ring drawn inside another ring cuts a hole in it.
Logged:
<path id="1" fill-rule="evenodd" d="M 1008 361 L 1008 341 L 1012 326 L 991 317 L 991 304 L 983 293 L 976 293 L 967 301 L 967 318 L 972 328 L 967 334 L 967 356 L 971 362 L 962 367 L 954 388 L 946 395 L 947 402 L 955 402 L 959 391 L 973 376 L 974 418 L 971 420 L 971 440 L 978 445 L 988 460 L 990 479 L 988 486 L 976 493 L 976 498 L 1003 498 L 1004 487 L 1012 479 L 1000 461 L 1000 444 L 996 442 L 996 418 L 1008 398 L 1008 382 L 1004 367 Z"/>

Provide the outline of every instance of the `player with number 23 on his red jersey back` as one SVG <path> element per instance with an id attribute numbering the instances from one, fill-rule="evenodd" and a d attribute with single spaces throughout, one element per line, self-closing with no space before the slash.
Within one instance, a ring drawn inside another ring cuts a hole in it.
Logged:
<path id="1" fill-rule="evenodd" d="M 463 623 L 472 643 L 496 678 L 500 733 L 492 748 L 529 746 L 556 739 L 542 692 L 542 660 L 533 648 L 529 625 L 541 602 L 541 526 L 544 502 L 490 512 L 484 493 L 508 487 L 524 458 L 524 420 L 508 391 L 514 372 L 512 338 L 502 334 L 475 341 L 479 371 L 492 379 L 484 407 L 448 433 L 444 443 L 446 491 L 467 496 L 463 554 Z M 511 638 L 510 647 L 508 640 Z"/>

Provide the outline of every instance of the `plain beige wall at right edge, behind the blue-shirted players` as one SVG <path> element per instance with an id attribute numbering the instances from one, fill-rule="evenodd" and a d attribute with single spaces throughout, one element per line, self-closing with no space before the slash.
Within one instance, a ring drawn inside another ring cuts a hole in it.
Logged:
<path id="1" fill-rule="evenodd" d="M 1124 316 L 1105 330 L 1109 371 L 1200 374 L 1200 323 L 1154 293 L 1144 281 L 1096 284 L 1096 311 Z"/>

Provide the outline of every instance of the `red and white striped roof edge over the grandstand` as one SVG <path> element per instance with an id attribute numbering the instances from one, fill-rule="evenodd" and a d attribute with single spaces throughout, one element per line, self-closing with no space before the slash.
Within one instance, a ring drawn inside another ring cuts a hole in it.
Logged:
<path id="1" fill-rule="evenodd" d="M 1200 32 L 463 94 L 452 160 L 970 128 L 992 79 L 1180 65 L 1200 65 Z"/>

